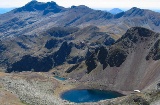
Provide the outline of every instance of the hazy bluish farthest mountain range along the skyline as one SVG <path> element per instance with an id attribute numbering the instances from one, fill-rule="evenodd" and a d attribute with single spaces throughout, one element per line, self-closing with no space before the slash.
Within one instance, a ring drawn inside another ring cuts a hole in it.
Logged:
<path id="1" fill-rule="evenodd" d="M 1 37 L 12 36 L 13 33 L 31 35 L 37 30 L 40 32 L 41 29 L 45 30 L 54 26 L 86 27 L 96 25 L 102 30 L 118 36 L 124 34 L 132 26 L 142 26 L 159 32 L 159 14 L 150 10 L 131 8 L 126 12 L 113 15 L 83 5 L 64 8 L 55 2 L 31 1 L 22 8 L 1 15 L 0 23 Z"/>

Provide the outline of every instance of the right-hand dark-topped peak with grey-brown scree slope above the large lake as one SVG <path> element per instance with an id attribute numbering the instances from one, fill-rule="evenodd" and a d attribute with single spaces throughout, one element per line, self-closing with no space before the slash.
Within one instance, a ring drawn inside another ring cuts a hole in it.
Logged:
<path id="1" fill-rule="evenodd" d="M 85 64 L 88 74 L 81 76 L 81 81 L 113 90 L 147 88 L 160 79 L 159 39 L 159 34 L 151 30 L 129 29 L 109 48 L 100 47 L 93 52 Z M 71 73 L 75 78 L 79 76 L 75 71 Z"/>

